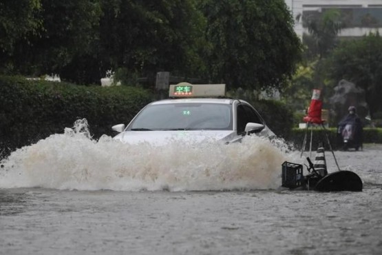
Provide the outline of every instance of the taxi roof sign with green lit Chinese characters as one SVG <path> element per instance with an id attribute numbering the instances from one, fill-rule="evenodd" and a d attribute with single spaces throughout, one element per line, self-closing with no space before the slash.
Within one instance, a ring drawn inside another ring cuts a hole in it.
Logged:
<path id="1" fill-rule="evenodd" d="M 169 97 L 216 97 L 225 96 L 225 84 L 191 84 L 182 82 L 171 84 Z"/>

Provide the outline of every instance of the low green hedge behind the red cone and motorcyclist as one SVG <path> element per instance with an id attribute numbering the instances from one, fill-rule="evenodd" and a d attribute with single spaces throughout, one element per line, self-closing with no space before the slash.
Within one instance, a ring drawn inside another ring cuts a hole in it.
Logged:
<path id="1" fill-rule="evenodd" d="M 330 144 L 333 150 L 339 150 L 342 147 L 341 140 L 337 136 L 337 128 L 326 128 L 326 131 L 322 128 L 313 128 L 312 133 L 312 150 L 317 150 L 319 143 L 323 142 L 325 149 L 329 150 L 328 143 L 326 141 L 326 134 L 328 134 Z M 301 150 L 301 145 L 304 141 L 306 130 L 293 128 L 292 135 L 290 136 L 290 143 L 293 143 L 295 147 Z M 306 150 L 309 149 L 310 143 L 310 128 L 307 132 Z M 382 143 L 382 128 L 364 128 L 363 129 L 363 143 Z"/>

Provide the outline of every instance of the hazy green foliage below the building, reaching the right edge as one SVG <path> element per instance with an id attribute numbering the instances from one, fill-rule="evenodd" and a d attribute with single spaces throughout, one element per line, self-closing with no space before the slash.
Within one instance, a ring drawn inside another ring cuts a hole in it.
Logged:
<path id="1" fill-rule="evenodd" d="M 323 108 L 330 109 L 335 86 L 345 79 L 365 91 L 372 122 L 381 127 L 382 39 L 378 33 L 359 38 L 337 34 L 348 25 L 339 10 L 325 10 L 319 15 L 306 14 L 303 61 L 292 81 L 282 93 L 282 100 L 296 112 L 304 112 L 310 103 L 312 89 L 321 89 Z M 339 114 L 336 112 L 335 114 Z M 301 120 L 300 120 L 301 121 Z"/>

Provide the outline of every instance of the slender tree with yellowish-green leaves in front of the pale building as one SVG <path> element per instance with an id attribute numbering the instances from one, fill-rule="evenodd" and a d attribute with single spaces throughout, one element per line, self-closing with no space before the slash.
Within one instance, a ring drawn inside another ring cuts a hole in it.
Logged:
<path id="1" fill-rule="evenodd" d="M 310 32 L 304 34 L 304 58 L 283 94 L 283 100 L 295 110 L 307 108 L 313 89 L 320 89 L 321 98 L 325 98 L 328 85 L 325 59 L 335 48 L 337 35 L 344 28 L 339 10 L 304 14 L 303 23 Z M 323 107 L 327 107 L 328 102 L 323 103 Z"/>

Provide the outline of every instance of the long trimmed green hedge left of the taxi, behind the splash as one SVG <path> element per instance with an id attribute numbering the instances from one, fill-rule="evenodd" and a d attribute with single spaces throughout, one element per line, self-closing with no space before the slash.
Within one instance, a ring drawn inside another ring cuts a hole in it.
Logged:
<path id="1" fill-rule="evenodd" d="M 0 76 L 0 158 L 87 119 L 94 138 L 112 134 L 151 101 L 140 88 L 82 86 Z M 3 155 L 1 155 L 3 154 Z"/>

